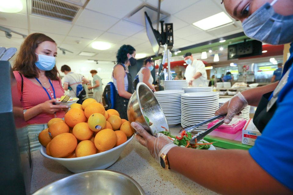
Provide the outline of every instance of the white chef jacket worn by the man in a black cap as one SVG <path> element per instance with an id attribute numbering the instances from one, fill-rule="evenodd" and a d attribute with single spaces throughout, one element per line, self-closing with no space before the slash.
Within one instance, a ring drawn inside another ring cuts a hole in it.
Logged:
<path id="1" fill-rule="evenodd" d="M 192 87 L 208 87 L 208 76 L 204 69 L 204 62 L 194 59 L 190 65 L 186 67 L 185 78 L 191 80 L 195 73 L 201 73 L 201 76 L 192 82 Z"/>

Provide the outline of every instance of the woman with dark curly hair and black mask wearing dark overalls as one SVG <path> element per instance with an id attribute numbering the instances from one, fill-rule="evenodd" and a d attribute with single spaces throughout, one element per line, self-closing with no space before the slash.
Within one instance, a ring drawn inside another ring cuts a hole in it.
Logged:
<path id="1" fill-rule="evenodd" d="M 127 105 L 134 88 L 133 80 L 128 71 L 128 66 L 136 65 L 136 51 L 131 45 L 122 45 L 117 51 L 117 65 L 114 66 L 112 78 L 115 85 L 116 101 L 114 109 L 120 114 L 121 119 L 127 118 Z"/>

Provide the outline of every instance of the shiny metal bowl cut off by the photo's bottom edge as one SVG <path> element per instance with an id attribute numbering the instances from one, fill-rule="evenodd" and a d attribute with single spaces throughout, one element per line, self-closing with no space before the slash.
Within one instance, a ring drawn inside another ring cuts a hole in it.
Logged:
<path id="1" fill-rule="evenodd" d="M 143 189 L 131 177 L 116 171 L 95 170 L 73 174 L 57 180 L 32 195 L 145 195 Z"/>

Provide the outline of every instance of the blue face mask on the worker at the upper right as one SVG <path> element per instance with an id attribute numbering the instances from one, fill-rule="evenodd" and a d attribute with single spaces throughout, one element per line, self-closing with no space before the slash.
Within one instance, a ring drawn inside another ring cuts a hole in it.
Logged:
<path id="1" fill-rule="evenodd" d="M 293 15 L 277 14 L 273 5 L 266 3 L 242 23 L 246 36 L 270 45 L 293 42 Z"/>

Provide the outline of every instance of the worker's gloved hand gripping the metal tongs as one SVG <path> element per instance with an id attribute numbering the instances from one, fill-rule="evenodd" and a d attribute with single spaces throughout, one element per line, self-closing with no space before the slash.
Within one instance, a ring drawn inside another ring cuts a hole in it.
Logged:
<path id="1" fill-rule="evenodd" d="M 222 104 L 222 106 L 215 112 L 215 116 L 227 114 L 224 119 L 225 124 L 229 124 L 232 118 L 237 115 L 243 108 L 248 105 L 245 97 L 238 92 L 229 101 Z"/>

